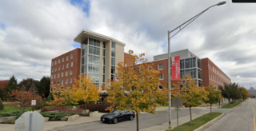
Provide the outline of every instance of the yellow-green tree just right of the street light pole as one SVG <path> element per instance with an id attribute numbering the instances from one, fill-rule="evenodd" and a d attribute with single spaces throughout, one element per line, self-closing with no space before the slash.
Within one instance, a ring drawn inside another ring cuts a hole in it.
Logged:
<path id="1" fill-rule="evenodd" d="M 182 98 L 183 104 L 190 107 L 190 125 L 192 125 L 192 113 L 191 107 L 202 105 L 202 101 L 206 101 L 208 93 L 204 87 L 195 85 L 196 81 L 190 77 L 189 74 L 185 75 L 180 82 L 182 85 L 180 97 Z"/>

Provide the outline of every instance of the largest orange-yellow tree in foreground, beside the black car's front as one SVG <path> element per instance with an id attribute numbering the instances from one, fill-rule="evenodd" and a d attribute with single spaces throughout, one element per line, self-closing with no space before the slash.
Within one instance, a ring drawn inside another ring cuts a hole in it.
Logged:
<path id="1" fill-rule="evenodd" d="M 118 79 L 108 80 L 111 85 L 106 91 L 109 94 L 107 101 L 112 104 L 108 109 L 112 110 L 118 105 L 117 109 L 133 110 L 136 113 L 138 130 L 138 114 L 141 111 L 155 113 L 158 103 L 165 105 L 169 101 L 169 90 L 165 87 L 162 90 L 157 89 L 160 85 L 158 70 L 153 69 L 153 63 L 147 62 L 145 54 L 133 53 L 129 50 L 127 56 L 132 64 L 118 63 Z"/>

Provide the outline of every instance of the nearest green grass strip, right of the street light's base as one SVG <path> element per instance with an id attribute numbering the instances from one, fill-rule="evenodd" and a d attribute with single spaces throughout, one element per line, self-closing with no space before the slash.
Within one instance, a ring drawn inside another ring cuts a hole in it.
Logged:
<path id="1" fill-rule="evenodd" d="M 212 115 L 210 115 L 210 113 L 206 113 L 205 115 L 192 120 L 192 125 L 190 125 L 190 121 L 189 121 L 182 125 L 179 125 L 178 129 L 180 131 L 193 131 L 194 129 L 198 129 L 200 126 L 205 125 L 207 122 L 213 120 L 215 117 L 220 116 L 221 114 L 222 113 L 212 113 Z M 177 127 L 175 127 L 172 130 L 167 129 L 166 131 L 176 131 L 178 129 Z"/>

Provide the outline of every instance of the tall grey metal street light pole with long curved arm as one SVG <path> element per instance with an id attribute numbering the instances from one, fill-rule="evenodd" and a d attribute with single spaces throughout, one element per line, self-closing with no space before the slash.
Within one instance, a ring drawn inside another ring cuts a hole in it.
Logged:
<path id="1" fill-rule="evenodd" d="M 218 2 L 218 4 L 215 4 L 213 6 L 221 6 L 226 4 L 225 1 L 223 2 Z M 209 10 L 211 7 L 210 6 L 208 8 L 206 8 L 206 10 Z M 176 32 L 174 35 L 178 34 L 181 30 L 183 30 L 186 26 L 188 26 L 191 22 L 193 22 L 196 18 L 198 18 L 201 14 L 205 13 L 206 10 L 203 10 L 202 12 L 200 12 L 199 14 L 195 15 L 193 18 L 190 18 L 188 21 L 182 23 L 182 25 L 176 27 L 174 30 L 178 30 L 178 32 Z M 184 27 L 182 27 L 184 26 Z M 173 38 L 174 35 L 172 35 L 170 37 L 170 33 L 174 32 L 174 30 L 168 30 L 167 34 L 168 34 L 168 89 L 170 90 L 170 81 L 171 81 L 171 77 L 170 77 L 170 38 Z M 171 129 L 171 92 L 169 92 L 169 129 Z"/>

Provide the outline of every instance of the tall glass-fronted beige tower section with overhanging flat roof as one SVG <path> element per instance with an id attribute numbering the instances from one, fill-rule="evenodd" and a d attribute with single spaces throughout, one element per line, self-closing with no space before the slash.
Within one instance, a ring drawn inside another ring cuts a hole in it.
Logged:
<path id="1" fill-rule="evenodd" d="M 80 73 L 94 78 L 94 85 L 110 85 L 107 80 L 115 79 L 118 62 L 124 62 L 125 43 L 114 38 L 82 30 L 74 42 L 81 43 Z M 101 87 L 100 87 L 100 90 Z"/>

